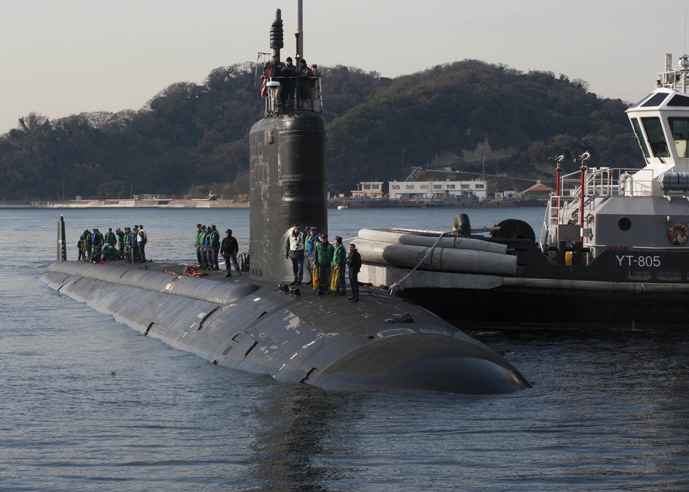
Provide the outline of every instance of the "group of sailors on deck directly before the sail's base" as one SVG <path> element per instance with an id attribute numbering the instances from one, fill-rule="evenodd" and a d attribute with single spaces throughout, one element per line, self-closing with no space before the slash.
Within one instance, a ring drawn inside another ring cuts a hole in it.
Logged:
<path id="1" fill-rule="evenodd" d="M 291 261 L 294 274 L 294 280 L 289 285 L 302 285 L 306 270 L 307 285 L 312 285 L 314 290 L 318 290 L 318 294 L 326 295 L 332 292 L 334 296 L 346 296 L 345 271 L 349 267 L 351 296 L 347 300 L 358 303 L 361 256 L 356 250 L 356 245 L 350 243 L 347 254 L 342 237 L 335 236 L 335 243 L 331 244 L 328 234 L 317 234 L 316 227 L 309 226 L 306 232 L 304 235 L 300 225 L 295 224 L 287 235 L 285 258 Z"/>

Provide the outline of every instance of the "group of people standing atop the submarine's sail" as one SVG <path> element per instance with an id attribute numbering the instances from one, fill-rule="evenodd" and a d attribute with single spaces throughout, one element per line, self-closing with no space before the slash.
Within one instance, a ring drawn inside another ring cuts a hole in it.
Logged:
<path id="1" fill-rule="evenodd" d="M 316 91 L 316 79 L 320 77 L 318 66 L 314 63 L 309 67 L 305 59 L 299 59 L 298 65 L 292 65 L 291 57 L 287 57 L 285 63 L 280 61 L 280 57 L 273 56 L 270 63 L 266 63 L 261 74 L 263 86 L 260 96 L 266 95 L 267 81 L 279 82 L 273 88 L 274 99 L 278 107 L 282 110 L 296 109 L 294 101 L 298 100 L 302 109 L 309 109 L 308 101 L 313 100 Z M 312 109 L 312 108 L 311 108 Z"/>

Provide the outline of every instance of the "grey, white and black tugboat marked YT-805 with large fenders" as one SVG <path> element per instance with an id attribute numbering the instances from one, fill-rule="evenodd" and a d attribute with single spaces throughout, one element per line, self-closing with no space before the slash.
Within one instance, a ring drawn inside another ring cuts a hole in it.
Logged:
<path id="1" fill-rule="evenodd" d="M 364 229 L 360 280 L 462 327 L 686 329 L 689 56 L 678 70 L 671 59 L 626 111 L 644 168 L 592 167 L 582 147 L 579 171 L 563 175 L 563 150 L 538 242 L 517 219 L 473 234 L 466 214 L 443 234 Z"/>

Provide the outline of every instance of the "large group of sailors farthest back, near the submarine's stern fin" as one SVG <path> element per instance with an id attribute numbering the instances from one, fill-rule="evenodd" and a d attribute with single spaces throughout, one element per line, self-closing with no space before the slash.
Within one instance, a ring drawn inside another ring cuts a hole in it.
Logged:
<path id="1" fill-rule="evenodd" d="M 148 236 L 143 225 L 118 227 L 112 232 L 108 227 L 105 234 L 97 227 L 93 231 L 85 229 L 76 243 L 79 249 L 79 260 L 88 263 L 103 263 L 112 260 L 127 260 L 127 263 L 144 263 L 146 261 L 146 243 Z"/>

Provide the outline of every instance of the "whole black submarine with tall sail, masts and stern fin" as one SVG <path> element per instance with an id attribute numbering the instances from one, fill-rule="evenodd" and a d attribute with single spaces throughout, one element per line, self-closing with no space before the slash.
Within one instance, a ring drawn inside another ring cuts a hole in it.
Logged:
<path id="1" fill-rule="evenodd" d="M 297 59 L 301 12 L 299 1 Z M 270 44 L 280 57 L 280 10 Z M 281 382 L 334 391 L 467 394 L 530 387 L 489 347 L 407 300 L 362 287 L 355 304 L 305 285 L 287 286 L 292 272 L 285 241 L 292 225 L 327 231 L 327 132 L 320 79 L 308 98 L 296 93 L 284 100 L 276 90 L 283 82 L 266 81 L 265 117 L 249 134 L 249 275 L 209 271 L 198 277 L 185 274 L 186 265 L 68 261 L 61 217 L 57 261 L 41 282 L 174 349 Z M 413 322 L 395 322 L 400 319 Z"/>

